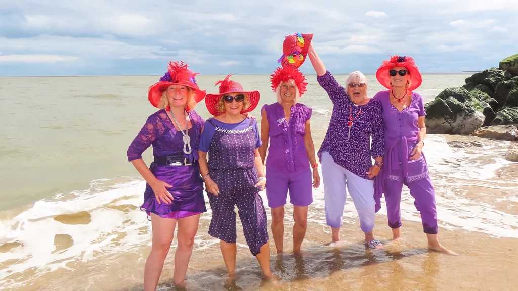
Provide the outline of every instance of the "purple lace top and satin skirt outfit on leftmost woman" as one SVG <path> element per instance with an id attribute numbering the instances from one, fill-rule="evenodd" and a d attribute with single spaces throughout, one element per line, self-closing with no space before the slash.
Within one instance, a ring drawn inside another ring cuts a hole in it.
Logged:
<path id="1" fill-rule="evenodd" d="M 204 120 L 194 111 L 189 112 L 192 128 L 189 129 L 191 137 L 192 152 L 183 153 L 183 135 L 177 132 L 166 111 L 161 109 L 151 114 L 146 124 L 140 129 L 140 133 L 135 137 L 127 151 L 129 161 L 142 158 L 142 153 L 153 147 L 154 156 L 164 156 L 168 154 L 183 155 L 189 161 L 194 161 L 198 156 L 198 143 L 200 132 Z M 150 171 L 156 179 L 164 181 L 172 188 L 167 188 L 174 197 L 171 203 L 163 202 L 159 204 L 154 192 L 149 184 L 146 183 L 144 192 L 144 202 L 140 206 L 145 210 L 167 218 L 181 218 L 207 211 L 205 199 L 203 197 L 203 180 L 199 174 L 199 164 L 190 166 L 166 166 L 151 163 Z"/>

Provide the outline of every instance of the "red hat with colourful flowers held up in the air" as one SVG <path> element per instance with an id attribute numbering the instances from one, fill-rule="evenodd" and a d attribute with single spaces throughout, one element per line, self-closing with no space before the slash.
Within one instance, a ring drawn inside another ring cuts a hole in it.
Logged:
<path id="1" fill-rule="evenodd" d="M 282 43 L 283 54 L 277 63 L 282 63 L 283 67 L 299 68 L 306 60 L 312 38 L 313 34 L 295 33 L 286 36 Z"/>

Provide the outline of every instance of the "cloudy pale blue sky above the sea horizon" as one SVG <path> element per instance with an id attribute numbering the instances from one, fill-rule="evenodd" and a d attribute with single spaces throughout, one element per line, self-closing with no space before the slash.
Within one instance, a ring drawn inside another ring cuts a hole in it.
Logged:
<path id="1" fill-rule="evenodd" d="M 479 70 L 518 53 L 516 15 L 517 0 L 0 0 L 0 76 L 162 75 L 168 60 L 270 74 L 295 32 L 314 34 L 332 72 L 394 54 L 424 72 Z"/>

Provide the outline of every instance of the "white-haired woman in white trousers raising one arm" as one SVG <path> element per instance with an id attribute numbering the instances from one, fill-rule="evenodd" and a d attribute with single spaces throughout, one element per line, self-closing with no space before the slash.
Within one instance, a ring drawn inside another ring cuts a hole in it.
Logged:
<path id="1" fill-rule="evenodd" d="M 339 241 L 349 193 L 358 212 L 360 227 L 365 232 L 365 242 L 369 248 L 379 249 L 381 242 L 372 234 L 376 214 L 372 179 L 382 167 L 385 152 L 381 105 L 377 100 L 367 98 L 367 80 L 361 72 L 349 75 L 346 91 L 326 71 L 313 46 L 308 55 L 318 75 L 316 79 L 334 104 L 329 128 L 318 151 L 326 223 L 332 228 L 333 242 Z M 375 165 L 372 165 L 371 157 L 375 159 Z"/>

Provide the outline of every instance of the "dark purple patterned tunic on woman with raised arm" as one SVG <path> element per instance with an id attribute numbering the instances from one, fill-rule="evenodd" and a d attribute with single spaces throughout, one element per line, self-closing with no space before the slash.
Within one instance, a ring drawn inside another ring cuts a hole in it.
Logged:
<path id="1" fill-rule="evenodd" d="M 329 71 L 316 77 L 316 80 L 334 104 L 326 136 L 318 151 L 320 161 L 322 152 L 328 152 L 338 165 L 358 177 L 369 179 L 366 172 L 372 167 L 370 157 L 383 156 L 385 153 L 381 104 L 371 99 L 365 105 L 354 105 L 346 90 Z M 347 125 L 349 112 L 354 118 L 352 127 Z"/>

